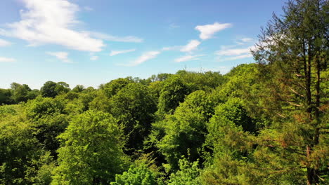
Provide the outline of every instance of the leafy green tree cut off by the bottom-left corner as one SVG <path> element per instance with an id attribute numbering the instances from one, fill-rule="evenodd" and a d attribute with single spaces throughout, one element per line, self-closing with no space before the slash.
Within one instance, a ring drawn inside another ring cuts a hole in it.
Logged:
<path id="1" fill-rule="evenodd" d="M 41 147 L 22 107 L 0 107 L 0 184 L 32 184 L 29 180 Z"/>

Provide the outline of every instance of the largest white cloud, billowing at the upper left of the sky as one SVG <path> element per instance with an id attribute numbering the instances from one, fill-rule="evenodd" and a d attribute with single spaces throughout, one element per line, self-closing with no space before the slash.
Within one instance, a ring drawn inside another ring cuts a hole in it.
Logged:
<path id="1" fill-rule="evenodd" d="M 0 34 L 25 40 L 30 46 L 52 43 L 74 50 L 102 50 L 102 40 L 93 39 L 88 33 L 73 29 L 79 23 L 76 17 L 79 6 L 76 4 L 67 0 L 22 2 L 26 10 L 20 11 L 21 20 L 8 24 L 10 29 L 1 29 Z"/>

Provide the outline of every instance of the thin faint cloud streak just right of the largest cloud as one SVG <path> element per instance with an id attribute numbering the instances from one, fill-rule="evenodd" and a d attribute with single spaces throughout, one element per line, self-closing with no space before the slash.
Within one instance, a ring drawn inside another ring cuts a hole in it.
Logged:
<path id="1" fill-rule="evenodd" d="M 112 36 L 110 34 L 103 34 L 99 32 L 86 32 L 91 36 L 94 36 L 98 39 L 103 39 L 106 41 L 115 41 L 115 42 L 131 42 L 131 43 L 141 43 L 143 39 L 136 36 Z"/>

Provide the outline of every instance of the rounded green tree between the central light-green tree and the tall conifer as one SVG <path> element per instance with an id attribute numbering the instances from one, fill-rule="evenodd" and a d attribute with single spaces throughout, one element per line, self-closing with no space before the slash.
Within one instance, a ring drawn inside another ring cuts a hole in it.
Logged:
<path id="1" fill-rule="evenodd" d="M 254 127 L 255 121 L 247 115 L 241 100 L 231 98 L 216 107 L 207 125 L 207 146 L 214 149 L 214 155 L 230 153 L 242 158 L 253 144 L 253 136 L 246 131 L 254 130 Z"/>

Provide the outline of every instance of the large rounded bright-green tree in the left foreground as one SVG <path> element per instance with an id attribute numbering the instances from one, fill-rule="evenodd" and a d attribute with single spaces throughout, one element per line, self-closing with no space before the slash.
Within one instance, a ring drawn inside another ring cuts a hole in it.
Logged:
<path id="1" fill-rule="evenodd" d="M 110 114 L 86 111 L 59 138 L 59 165 L 51 184 L 109 184 L 124 170 L 122 130 Z"/>

